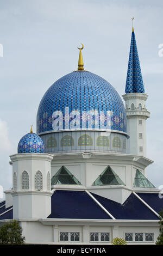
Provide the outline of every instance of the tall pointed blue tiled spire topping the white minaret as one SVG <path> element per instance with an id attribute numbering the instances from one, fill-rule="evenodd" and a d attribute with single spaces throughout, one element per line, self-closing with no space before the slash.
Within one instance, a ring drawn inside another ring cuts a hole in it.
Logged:
<path id="1" fill-rule="evenodd" d="M 131 45 L 130 45 L 130 54 L 129 54 L 125 92 L 126 93 L 145 93 L 142 75 L 141 75 L 139 56 L 137 52 L 134 28 L 131 35 Z"/>

